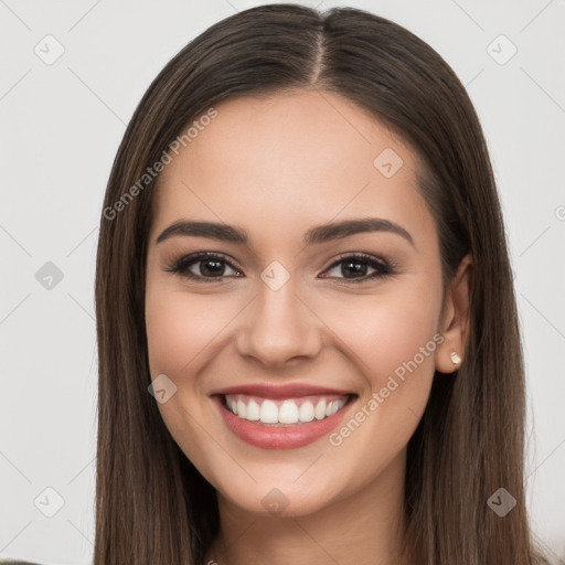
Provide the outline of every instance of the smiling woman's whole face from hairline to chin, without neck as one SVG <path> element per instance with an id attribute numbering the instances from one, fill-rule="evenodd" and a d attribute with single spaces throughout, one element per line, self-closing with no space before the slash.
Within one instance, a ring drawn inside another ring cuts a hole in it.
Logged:
<path id="1" fill-rule="evenodd" d="M 253 513 L 394 490 L 457 349 L 416 157 L 330 93 L 215 109 L 154 194 L 146 320 L 163 420 L 222 499 Z M 373 227 L 319 227 L 362 218 Z M 163 234 L 180 222 L 217 227 Z M 215 257 L 171 270 L 199 253 Z"/>

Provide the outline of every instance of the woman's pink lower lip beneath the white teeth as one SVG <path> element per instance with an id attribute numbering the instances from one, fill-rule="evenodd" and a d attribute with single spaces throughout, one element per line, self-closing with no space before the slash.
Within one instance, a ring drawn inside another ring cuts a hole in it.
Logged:
<path id="1" fill-rule="evenodd" d="M 220 407 L 227 427 L 247 444 L 260 447 L 262 449 L 294 449 L 320 439 L 341 423 L 354 398 L 354 396 L 350 397 L 343 408 L 321 420 L 312 420 L 297 426 L 275 427 L 239 418 L 224 406 L 224 397 L 222 395 L 212 397 Z"/>

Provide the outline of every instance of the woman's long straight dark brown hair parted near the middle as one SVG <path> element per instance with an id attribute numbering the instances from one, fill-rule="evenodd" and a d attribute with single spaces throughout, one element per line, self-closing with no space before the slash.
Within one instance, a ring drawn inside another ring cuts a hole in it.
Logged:
<path id="1" fill-rule="evenodd" d="M 295 88 L 345 96 L 399 135 L 422 161 L 419 189 L 438 230 L 444 285 L 466 253 L 473 259 L 465 360 L 451 377 L 435 375 L 408 444 L 408 562 L 537 563 L 524 504 L 524 369 L 512 270 L 472 104 L 427 43 L 386 19 L 271 4 L 212 25 L 166 65 L 114 162 L 96 265 L 94 565 L 201 564 L 220 527 L 214 488 L 172 440 L 148 393 L 146 255 L 159 177 L 143 175 L 214 104 Z M 503 518 L 487 503 L 499 488 L 516 501 Z"/>

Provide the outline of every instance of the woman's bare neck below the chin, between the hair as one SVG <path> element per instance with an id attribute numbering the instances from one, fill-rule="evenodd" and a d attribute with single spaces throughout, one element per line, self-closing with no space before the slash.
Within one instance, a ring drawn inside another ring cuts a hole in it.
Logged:
<path id="1" fill-rule="evenodd" d="M 204 564 L 399 565 L 404 532 L 402 452 L 355 493 L 308 515 L 252 514 L 220 492 L 220 535 Z"/>

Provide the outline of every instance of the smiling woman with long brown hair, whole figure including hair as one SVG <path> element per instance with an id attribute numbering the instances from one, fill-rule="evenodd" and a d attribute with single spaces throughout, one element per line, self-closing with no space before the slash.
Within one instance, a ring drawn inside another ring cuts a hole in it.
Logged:
<path id="1" fill-rule="evenodd" d="M 271 4 L 186 45 L 118 150 L 96 313 L 95 565 L 541 563 L 486 142 L 407 30 Z"/>

